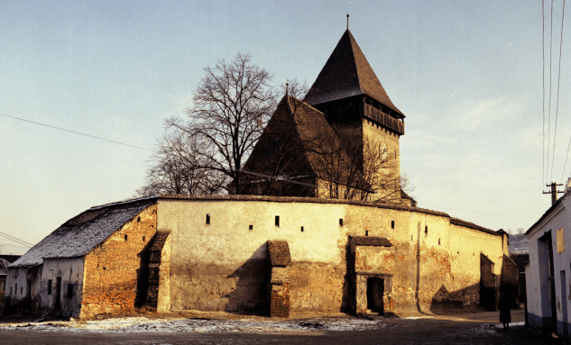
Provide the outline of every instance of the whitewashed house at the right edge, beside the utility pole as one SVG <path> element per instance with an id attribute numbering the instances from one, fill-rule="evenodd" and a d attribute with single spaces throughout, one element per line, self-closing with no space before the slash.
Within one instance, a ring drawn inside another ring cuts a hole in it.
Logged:
<path id="1" fill-rule="evenodd" d="M 525 268 L 530 325 L 569 334 L 571 196 L 567 192 L 526 232 L 530 262 Z"/>

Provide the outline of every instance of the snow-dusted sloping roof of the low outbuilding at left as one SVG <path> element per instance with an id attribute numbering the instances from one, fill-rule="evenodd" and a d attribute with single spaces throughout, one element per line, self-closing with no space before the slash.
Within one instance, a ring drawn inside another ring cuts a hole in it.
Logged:
<path id="1" fill-rule="evenodd" d="M 84 256 L 153 203 L 146 200 L 143 204 L 127 202 L 119 207 L 93 207 L 51 232 L 10 267 L 31 267 L 41 265 L 43 259 Z M 82 217 L 87 220 L 93 215 L 95 218 L 81 222 Z"/>

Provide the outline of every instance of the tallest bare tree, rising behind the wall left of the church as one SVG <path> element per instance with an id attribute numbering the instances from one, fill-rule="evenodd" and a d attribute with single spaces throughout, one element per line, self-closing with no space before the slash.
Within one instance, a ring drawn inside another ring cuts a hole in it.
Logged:
<path id="1" fill-rule="evenodd" d="M 241 53 L 204 71 L 188 119 L 170 118 L 167 125 L 196 142 L 201 168 L 229 177 L 230 192 L 243 194 L 242 165 L 275 108 L 272 76 Z"/>

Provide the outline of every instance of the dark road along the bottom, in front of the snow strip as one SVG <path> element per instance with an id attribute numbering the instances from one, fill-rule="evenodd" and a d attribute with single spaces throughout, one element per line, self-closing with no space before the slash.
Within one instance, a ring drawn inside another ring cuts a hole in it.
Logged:
<path id="1" fill-rule="evenodd" d="M 522 313 L 512 314 L 514 322 Z M 438 316 L 426 319 L 384 319 L 374 331 L 251 333 L 93 333 L 70 331 L 0 331 L 1 344 L 562 344 L 536 330 L 512 326 L 511 331 L 490 326 L 498 313 Z M 24 328 L 25 329 L 25 328 Z"/>

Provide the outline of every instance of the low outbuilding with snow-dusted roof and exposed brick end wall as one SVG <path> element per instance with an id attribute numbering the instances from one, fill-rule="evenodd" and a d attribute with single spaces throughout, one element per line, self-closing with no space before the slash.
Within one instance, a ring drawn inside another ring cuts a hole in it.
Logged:
<path id="1" fill-rule="evenodd" d="M 78 317 L 133 307 L 138 255 L 156 232 L 156 204 L 94 207 L 70 219 L 8 267 L 5 313 Z"/>

